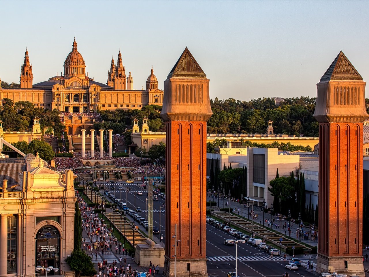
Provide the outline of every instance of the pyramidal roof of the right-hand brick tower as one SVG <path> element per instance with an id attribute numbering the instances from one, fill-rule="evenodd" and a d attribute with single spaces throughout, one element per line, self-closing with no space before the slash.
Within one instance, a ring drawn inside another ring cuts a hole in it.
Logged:
<path id="1" fill-rule="evenodd" d="M 320 82 L 330 80 L 362 81 L 363 78 L 341 50 L 332 64 L 328 67 L 327 71 L 323 74 Z"/>

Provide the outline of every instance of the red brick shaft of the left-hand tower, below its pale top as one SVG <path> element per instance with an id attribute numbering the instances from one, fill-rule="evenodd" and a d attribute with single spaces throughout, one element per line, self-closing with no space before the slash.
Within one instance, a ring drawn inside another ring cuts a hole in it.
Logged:
<path id="1" fill-rule="evenodd" d="M 177 259 L 205 258 L 206 122 L 171 121 L 166 131 L 166 256 L 177 224 Z"/>

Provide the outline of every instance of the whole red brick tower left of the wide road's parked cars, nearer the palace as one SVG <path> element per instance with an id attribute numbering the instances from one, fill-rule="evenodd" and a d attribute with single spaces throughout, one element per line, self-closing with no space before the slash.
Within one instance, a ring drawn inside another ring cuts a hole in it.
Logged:
<path id="1" fill-rule="evenodd" d="M 164 82 L 161 112 L 166 122 L 167 277 L 175 271 L 177 276 L 207 276 L 206 122 L 212 114 L 209 80 L 186 47 Z"/>

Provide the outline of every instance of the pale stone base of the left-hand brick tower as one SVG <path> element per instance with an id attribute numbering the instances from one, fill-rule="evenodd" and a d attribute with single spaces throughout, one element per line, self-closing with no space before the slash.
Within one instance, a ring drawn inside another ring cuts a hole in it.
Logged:
<path id="1" fill-rule="evenodd" d="M 189 269 L 187 265 L 189 264 Z M 175 260 L 165 256 L 163 275 L 175 276 Z M 207 277 L 206 259 L 177 259 L 177 277 Z"/>

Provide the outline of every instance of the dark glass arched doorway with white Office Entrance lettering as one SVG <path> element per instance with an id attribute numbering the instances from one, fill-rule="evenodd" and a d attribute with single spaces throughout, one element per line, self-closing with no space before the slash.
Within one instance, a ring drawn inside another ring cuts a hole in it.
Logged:
<path id="1" fill-rule="evenodd" d="M 58 229 L 52 225 L 42 227 L 36 235 L 36 267 L 59 268 L 60 257 L 60 234 Z M 38 272 L 40 276 L 45 275 L 45 270 Z M 51 270 L 48 275 L 58 275 L 59 271 Z"/>

